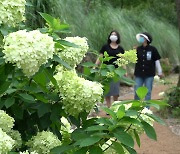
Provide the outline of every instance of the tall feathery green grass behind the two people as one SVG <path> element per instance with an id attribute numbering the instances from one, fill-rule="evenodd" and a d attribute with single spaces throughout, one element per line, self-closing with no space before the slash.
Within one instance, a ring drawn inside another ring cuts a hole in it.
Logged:
<path id="1" fill-rule="evenodd" d="M 47 5 L 50 9 L 44 10 L 70 24 L 71 35 L 87 37 L 92 50 L 100 50 L 113 29 L 120 32 L 121 45 L 126 50 L 137 45 L 137 33 L 147 31 L 152 34 L 152 44 L 157 47 L 161 56 L 170 58 L 174 64 L 179 64 L 178 29 L 165 20 L 153 17 L 149 12 L 139 13 L 132 8 L 127 10 L 103 5 L 94 7 L 87 13 L 82 0 L 52 0 L 46 7 Z"/>

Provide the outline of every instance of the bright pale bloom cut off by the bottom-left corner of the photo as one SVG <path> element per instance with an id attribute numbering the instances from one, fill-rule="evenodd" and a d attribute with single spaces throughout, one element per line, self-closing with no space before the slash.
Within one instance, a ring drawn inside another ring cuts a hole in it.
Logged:
<path id="1" fill-rule="evenodd" d="M 7 154 L 14 146 L 14 140 L 0 128 L 0 154 Z"/>

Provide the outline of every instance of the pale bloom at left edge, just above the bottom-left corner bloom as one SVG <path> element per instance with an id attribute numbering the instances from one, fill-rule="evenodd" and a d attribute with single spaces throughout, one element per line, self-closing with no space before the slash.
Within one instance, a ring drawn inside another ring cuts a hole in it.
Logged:
<path id="1" fill-rule="evenodd" d="M 9 132 L 14 126 L 14 119 L 6 114 L 5 111 L 0 110 L 0 128 L 4 132 Z"/>

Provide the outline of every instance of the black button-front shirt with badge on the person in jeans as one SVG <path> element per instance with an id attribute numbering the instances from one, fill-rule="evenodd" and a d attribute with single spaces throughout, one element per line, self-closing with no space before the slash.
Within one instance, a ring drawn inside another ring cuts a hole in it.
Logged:
<path id="1" fill-rule="evenodd" d="M 157 49 L 151 45 L 139 46 L 137 48 L 137 58 L 134 75 L 138 77 L 155 76 L 155 61 L 161 59 Z"/>

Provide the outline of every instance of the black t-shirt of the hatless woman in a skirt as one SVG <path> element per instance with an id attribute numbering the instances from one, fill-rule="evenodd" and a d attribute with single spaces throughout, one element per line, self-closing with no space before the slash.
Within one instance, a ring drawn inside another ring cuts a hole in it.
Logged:
<path id="1" fill-rule="evenodd" d="M 117 54 L 119 54 L 119 53 L 124 53 L 124 49 L 119 45 L 118 46 L 118 48 L 117 49 L 113 49 L 111 46 L 110 46 L 110 44 L 105 44 L 102 48 L 101 48 L 101 50 L 100 50 L 100 53 L 101 54 L 104 54 L 104 52 L 107 52 L 108 53 L 108 55 L 109 56 L 113 56 L 114 58 L 112 58 L 111 60 L 109 60 L 109 61 L 106 61 L 106 62 L 104 62 L 105 64 L 107 64 L 107 65 L 110 65 L 110 64 L 112 64 L 112 65 L 114 65 L 116 68 L 118 67 L 116 64 L 114 64 L 114 62 L 119 58 L 118 56 L 117 56 Z"/>

